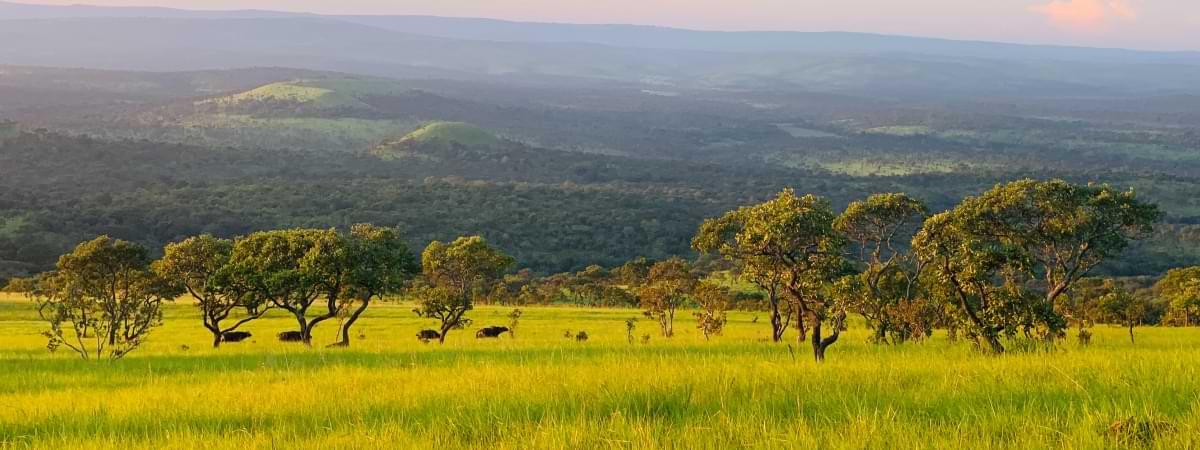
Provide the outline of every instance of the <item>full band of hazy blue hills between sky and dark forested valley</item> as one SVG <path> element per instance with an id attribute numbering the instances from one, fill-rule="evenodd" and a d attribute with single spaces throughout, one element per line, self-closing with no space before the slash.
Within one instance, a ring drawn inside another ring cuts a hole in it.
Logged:
<path id="1" fill-rule="evenodd" d="M 0 5 L 10 11 L 0 13 L 8 18 L 0 20 L 0 64 L 13 65 L 137 71 L 278 66 L 542 88 L 606 83 L 884 98 L 1200 94 L 1196 53 L 847 32 Z M 25 12 L 11 12 L 18 10 Z"/>

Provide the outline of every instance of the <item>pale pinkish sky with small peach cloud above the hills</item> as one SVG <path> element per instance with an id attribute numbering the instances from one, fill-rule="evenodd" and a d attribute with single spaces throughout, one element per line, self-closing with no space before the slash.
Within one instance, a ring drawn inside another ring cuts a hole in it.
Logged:
<path id="1" fill-rule="evenodd" d="M 1200 0 L 13 0 L 30 4 L 428 14 L 704 30 L 865 31 L 1200 50 Z"/>

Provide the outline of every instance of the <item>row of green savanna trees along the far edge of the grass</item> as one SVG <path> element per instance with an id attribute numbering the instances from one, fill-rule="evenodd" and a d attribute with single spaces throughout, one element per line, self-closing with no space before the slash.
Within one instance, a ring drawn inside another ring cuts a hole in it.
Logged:
<path id="1" fill-rule="evenodd" d="M 631 260 L 576 274 L 511 274 L 515 259 L 480 236 L 433 241 L 418 257 L 396 228 L 287 229 L 236 239 L 200 235 L 169 244 L 150 260 L 136 244 L 101 236 L 59 259 L 56 270 L 14 284 L 49 323 L 49 348 L 83 358 L 120 358 L 181 295 L 202 311 L 220 346 L 270 310 L 296 320 L 295 340 L 312 344 L 319 324 L 338 319 L 335 346 L 373 301 L 403 294 L 414 313 L 437 320 L 437 340 L 469 326 L 478 302 L 572 302 L 638 306 L 664 337 L 680 308 L 695 307 L 706 337 L 726 311 L 766 311 L 776 342 L 794 329 L 823 360 L 852 314 L 877 343 L 918 341 L 935 328 L 1003 353 L 1006 340 L 1054 344 L 1069 326 L 1096 322 L 1130 329 L 1154 308 L 1115 281 L 1088 275 L 1153 232 L 1162 214 L 1132 191 L 1062 180 L 997 185 L 930 214 L 919 199 L 881 193 L 841 214 L 821 197 L 784 190 L 700 226 L 695 262 Z M 738 293 L 728 275 L 755 288 Z M 1200 319 L 1200 268 L 1171 270 L 1154 292 L 1168 299 L 1159 320 Z M 520 316 L 517 316 L 520 317 Z M 630 341 L 632 342 L 632 323 Z M 431 334 L 433 337 L 433 334 Z"/>

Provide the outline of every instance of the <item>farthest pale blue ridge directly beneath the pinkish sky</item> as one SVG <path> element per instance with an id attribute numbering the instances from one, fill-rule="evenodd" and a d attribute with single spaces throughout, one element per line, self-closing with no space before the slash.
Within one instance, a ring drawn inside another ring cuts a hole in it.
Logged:
<path id="1" fill-rule="evenodd" d="M 566 24 L 437 16 L 337 16 L 168 7 L 48 6 L 0 1 L 0 19 L 61 18 L 326 18 L 407 34 L 472 41 L 593 43 L 670 50 L 738 53 L 919 53 L 1024 60 L 1200 64 L 1200 52 L 1016 44 L 848 31 L 710 31 L 624 24 Z"/>

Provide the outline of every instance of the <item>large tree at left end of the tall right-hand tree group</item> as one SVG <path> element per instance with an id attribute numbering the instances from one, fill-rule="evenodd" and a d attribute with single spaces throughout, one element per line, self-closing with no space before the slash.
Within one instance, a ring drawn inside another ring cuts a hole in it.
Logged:
<path id="1" fill-rule="evenodd" d="M 829 202 L 816 196 L 797 197 L 785 190 L 766 203 L 744 206 L 704 221 L 692 247 L 720 253 L 748 280 L 767 293 L 772 338 L 782 340 L 787 322 L 781 296 L 791 302 L 798 320 L 812 334 L 812 353 L 818 361 L 838 342 L 846 319 L 844 305 L 827 295 L 830 280 L 845 270 L 842 239 L 833 229 Z M 822 336 L 828 322 L 832 332 Z M 802 338 L 804 331 L 800 332 Z"/>

